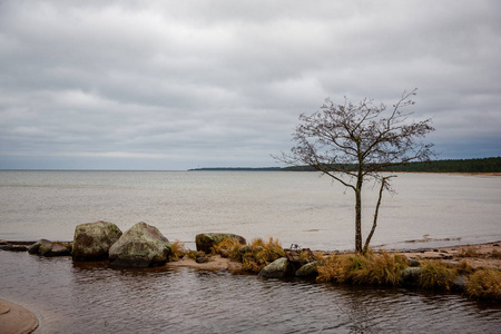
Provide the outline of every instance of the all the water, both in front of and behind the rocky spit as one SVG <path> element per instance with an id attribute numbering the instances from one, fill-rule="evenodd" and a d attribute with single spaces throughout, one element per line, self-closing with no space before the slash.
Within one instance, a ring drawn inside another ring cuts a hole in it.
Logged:
<path id="1" fill-rule="evenodd" d="M 396 174 L 371 245 L 415 249 L 501 240 L 501 177 Z M 379 188 L 363 191 L 363 235 Z M 71 240 L 78 224 L 138 222 L 195 248 L 206 232 L 284 247 L 354 248 L 354 194 L 318 173 L 1 170 L 0 239 Z M 36 333 L 499 333 L 499 303 L 409 288 L 264 279 L 193 268 L 117 269 L 0 252 L 0 297 Z"/>

